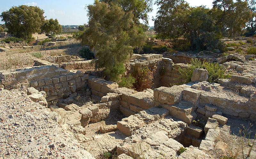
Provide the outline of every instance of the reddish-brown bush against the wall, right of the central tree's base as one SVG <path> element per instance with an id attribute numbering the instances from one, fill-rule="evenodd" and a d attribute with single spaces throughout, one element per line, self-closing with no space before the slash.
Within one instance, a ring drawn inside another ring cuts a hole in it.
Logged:
<path id="1" fill-rule="evenodd" d="M 135 83 L 134 88 L 136 91 L 143 91 L 147 88 L 151 88 L 153 79 L 153 72 L 148 68 L 138 68 L 135 71 Z"/>

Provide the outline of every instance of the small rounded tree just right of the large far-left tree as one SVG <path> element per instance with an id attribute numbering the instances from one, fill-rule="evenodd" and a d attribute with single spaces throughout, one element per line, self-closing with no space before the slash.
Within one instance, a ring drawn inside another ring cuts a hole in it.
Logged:
<path id="1" fill-rule="evenodd" d="M 41 32 L 46 36 L 52 36 L 53 34 L 60 34 L 62 31 L 62 26 L 59 24 L 58 20 L 45 20 L 44 25 L 41 27 Z"/>

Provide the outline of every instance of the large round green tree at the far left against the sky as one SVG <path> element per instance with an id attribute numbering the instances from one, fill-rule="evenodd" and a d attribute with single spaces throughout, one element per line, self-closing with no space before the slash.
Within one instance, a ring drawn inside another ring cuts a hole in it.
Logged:
<path id="1" fill-rule="evenodd" d="M 44 24 L 44 10 L 37 6 L 13 6 L 9 11 L 2 12 L 0 17 L 5 22 L 8 33 L 31 39 L 33 33 L 40 33 L 41 26 Z"/>

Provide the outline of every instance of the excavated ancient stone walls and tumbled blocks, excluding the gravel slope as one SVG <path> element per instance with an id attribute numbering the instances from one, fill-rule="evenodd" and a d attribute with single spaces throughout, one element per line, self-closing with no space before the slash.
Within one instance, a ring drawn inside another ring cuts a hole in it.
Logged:
<path id="1" fill-rule="evenodd" d="M 130 73 L 143 67 L 154 70 L 152 89 L 137 92 L 101 78 L 95 60 L 54 56 L 35 61 L 35 67 L 0 71 L 0 89 L 18 89 L 33 103 L 50 108 L 55 122 L 75 133 L 96 158 L 104 152 L 119 159 L 213 158 L 228 153 L 222 138 L 232 129 L 229 120 L 256 121 L 256 62 L 248 58 L 231 54 L 210 59 L 233 72 L 218 83 L 206 82 L 208 72 L 195 69 L 192 82 L 170 87 L 185 82 L 177 79 L 177 68 L 187 64 L 159 54 L 134 54 Z M 196 124 L 197 119 L 205 126 Z M 187 148 L 179 154 L 181 147 Z M 250 157 L 255 158 L 252 149 Z"/>

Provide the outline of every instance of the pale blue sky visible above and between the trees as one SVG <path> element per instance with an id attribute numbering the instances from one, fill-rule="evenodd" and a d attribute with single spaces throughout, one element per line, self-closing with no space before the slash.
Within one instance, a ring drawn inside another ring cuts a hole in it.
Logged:
<path id="1" fill-rule="evenodd" d="M 153 0 L 155 1 L 155 0 Z M 88 22 L 86 5 L 92 4 L 94 0 L 0 0 L 0 13 L 9 10 L 12 6 L 22 4 L 38 6 L 44 10 L 46 19 L 57 19 L 61 25 L 82 25 Z M 212 8 L 213 0 L 187 0 L 190 6 L 206 5 Z M 157 6 L 153 5 L 153 12 L 149 13 L 149 26 L 154 26 L 152 17 L 156 16 Z M 4 21 L 0 21 L 4 24 Z"/>

